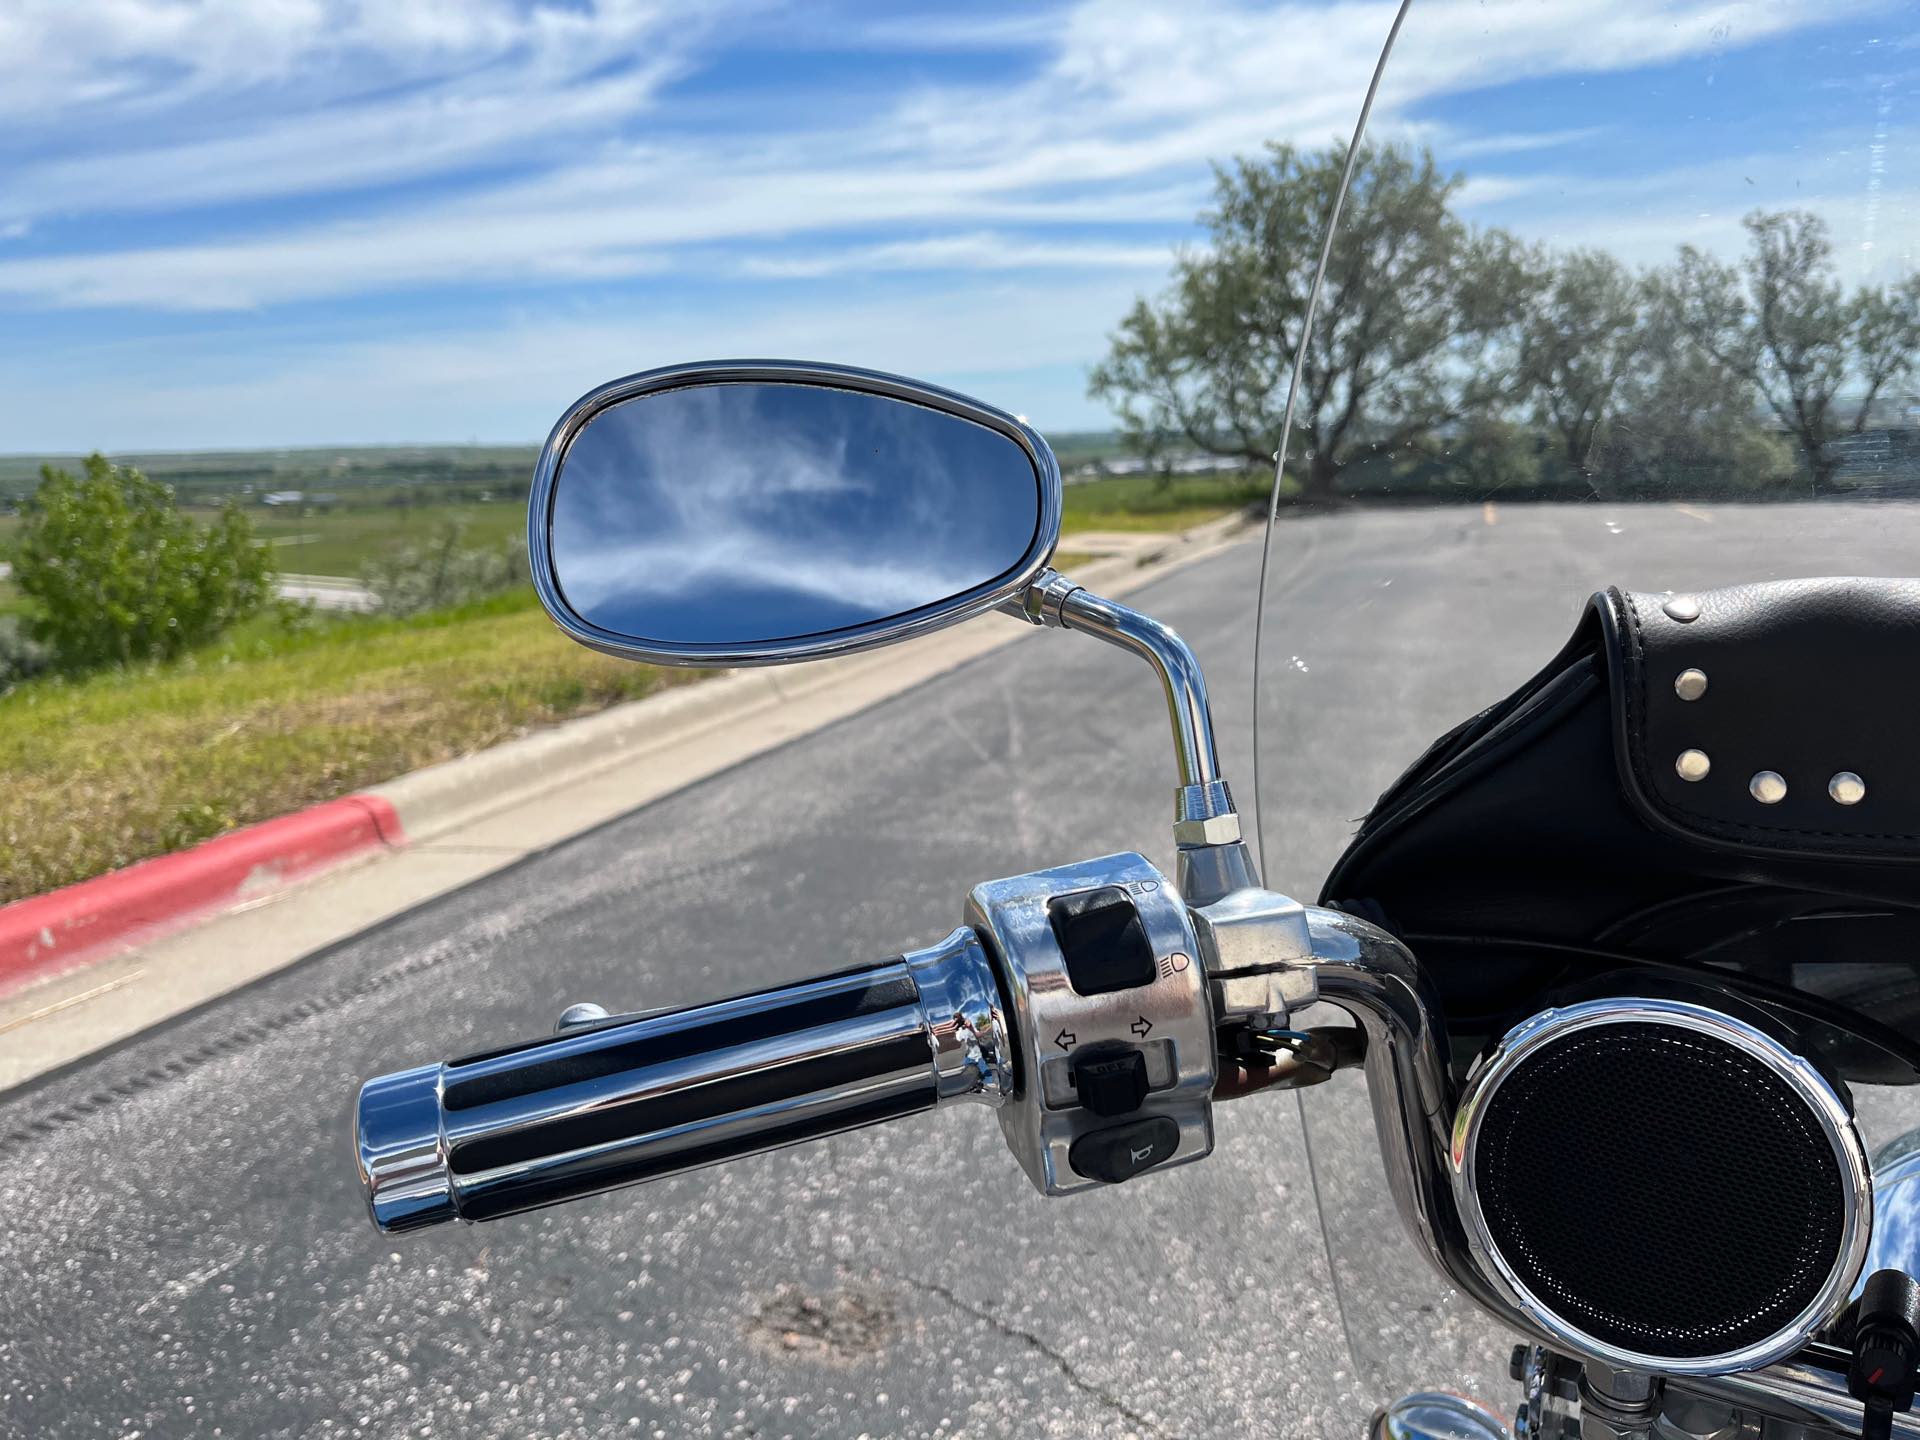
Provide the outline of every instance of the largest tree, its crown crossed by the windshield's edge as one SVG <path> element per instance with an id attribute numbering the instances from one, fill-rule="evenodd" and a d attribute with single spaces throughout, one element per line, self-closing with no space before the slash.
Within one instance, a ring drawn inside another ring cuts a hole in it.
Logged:
<path id="1" fill-rule="evenodd" d="M 1273 461 L 1344 163 L 1338 146 L 1277 144 L 1215 169 L 1213 209 L 1200 217 L 1208 248 L 1177 257 L 1171 288 L 1135 303 L 1089 376 L 1133 447 L 1175 440 Z M 1359 154 L 1294 409 L 1306 499 L 1331 497 L 1367 455 L 1430 444 L 1511 388 L 1503 340 L 1526 300 L 1521 250 L 1455 219 L 1457 188 L 1428 154 Z"/>

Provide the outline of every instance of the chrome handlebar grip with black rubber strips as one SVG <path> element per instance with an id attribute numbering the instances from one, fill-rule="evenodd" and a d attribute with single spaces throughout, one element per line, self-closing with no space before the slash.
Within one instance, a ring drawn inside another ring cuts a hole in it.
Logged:
<path id="1" fill-rule="evenodd" d="M 372 1221 L 480 1221 L 929 1110 L 1002 1104 L 1012 1037 L 972 929 L 862 970 L 361 1087 Z"/>

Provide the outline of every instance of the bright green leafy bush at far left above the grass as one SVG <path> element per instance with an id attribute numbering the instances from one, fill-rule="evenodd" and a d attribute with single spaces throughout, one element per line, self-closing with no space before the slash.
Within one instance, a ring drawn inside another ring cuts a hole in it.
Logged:
<path id="1" fill-rule="evenodd" d="M 275 563 L 236 507 L 196 524 L 165 484 L 88 455 L 81 478 L 40 467 L 13 582 L 35 601 L 27 634 L 60 668 L 88 670 L 213 639 L 273 597 Z"/>

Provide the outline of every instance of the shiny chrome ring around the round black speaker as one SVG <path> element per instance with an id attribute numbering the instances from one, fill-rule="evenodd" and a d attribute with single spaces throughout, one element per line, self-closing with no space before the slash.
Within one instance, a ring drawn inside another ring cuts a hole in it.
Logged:
<path id="1" fill-rule="evenodd" d="M 1818 1294 L 1791 1321 L 1763 1340 L 1713 1356 L 1684 1357 L 1645 1354 L 1609 1344 L 1572 1325 L 1528 1290 L 1494 1240 L 1475 1181 L 1476 1146 L 1488 1102 L 1528 1056 L 1557 1041 L 1565 1041 L 1569 1035 L 1609 1025 L 1668 1025 L 1736 1046 L 1764 1066 L 1805 1102 L 1834 1150 L 1843 1188 L 1839 1261 Z M 1874 1190 L 1866 1148 L 1860 1144 L 1847 1104 L 1826 1075 L 1766 1031 L 1709 1006 L 1686 1000 L 1586 1000 L 1559 1010 L 1544 1010 L 1515 1025 L 1494 1048 L 1488 1062 L 1467 1079 L 1459 1108 L 1453 1112 L 1448 1167 L 1453 1198 L 1467 1231 L 1467 1244 L 1486 1279 L 1532 1329 L 1576 1354 L 1607 1361 L 1620 1369 L 1663 1375 L 1726 1375 L 1759 1369 L 1784 1359 L 1799 1350 L 1820 1325 L 1847 1304 L 1847 1296 L 1866 1263 L 1868 1242 L 1872 1238 Z"/>

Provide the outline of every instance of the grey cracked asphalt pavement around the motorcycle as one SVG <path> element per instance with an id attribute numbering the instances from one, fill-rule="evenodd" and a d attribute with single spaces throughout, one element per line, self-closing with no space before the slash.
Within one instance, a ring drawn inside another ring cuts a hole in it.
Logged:
<path id="1" fill-rule="evenodd" d="M 1313 893 L 1369 799 L 1596 586 L 1901 574 L 1916 540 L 1912 507 L 1290 522 L 1269 881 Z M 1256 563 L 1131 597 L 1208 664 L 1242 799 Z M 367 1223 L 367 1075 L 543 1033 L 572 1000 L 891 954 L 977 879 L 1119 849 L 1169 866 L 1171 783 L 1144 668 L 1035 632 L 0 1100 L 0 1432 L 1357 1436 L 1402 1375 L 1507 1409 L 1494 1327 L 1390 1283 L 1419 1271 L 1348 1077 L 1306 1100 L 1363 1242 L 1342 1261 L 1361 1367 L 1286 1096 L 1225 1106 L 1206 1164 L 1073 1200 L 1035 1196 L 991 1116 L 956 1108 L 484 1227 Z"/>

